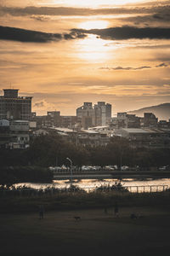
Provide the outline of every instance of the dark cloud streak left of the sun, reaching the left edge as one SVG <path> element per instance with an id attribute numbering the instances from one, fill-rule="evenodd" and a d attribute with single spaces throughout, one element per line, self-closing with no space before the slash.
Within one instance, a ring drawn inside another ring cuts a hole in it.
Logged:
<path id="1" fill-rule="evenodd" d="M 77 39 L 85 38 L 86 35 L 82 32 L 71 32 L 69 34 L 47 33 L 32 30 L 26 30 L 16 27 L 0 26 L 0 39 L 14 40 L 20 42 L 48 43 L 50 41 L 59 41 L 62 39 Z"/>

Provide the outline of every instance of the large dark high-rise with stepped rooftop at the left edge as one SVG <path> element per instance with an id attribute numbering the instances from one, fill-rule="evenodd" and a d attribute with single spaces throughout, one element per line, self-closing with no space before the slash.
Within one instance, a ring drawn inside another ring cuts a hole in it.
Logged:
<path id="1" fill-rule="evenodd" d="M 16 89 L 4 89 L 0 96 L 0 119 L 31 119 L 31 96 L 18 96 Z"/>

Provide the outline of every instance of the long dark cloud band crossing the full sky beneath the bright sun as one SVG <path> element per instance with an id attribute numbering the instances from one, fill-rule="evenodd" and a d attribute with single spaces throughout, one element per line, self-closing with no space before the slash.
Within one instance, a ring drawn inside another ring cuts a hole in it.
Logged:
<path id="1" fill-rule="evenodd" d="M 59 41 L 62 39 L 71 40 L 77 38 L 85 38 L 88 34 L 94 34 L 105 40 L 127 40 L 131 38 L 170 39 L 170 28 L 139 28 L 134 26 L 122 26 L 91 30 L 72 29 L 70 33 L 62 34 L 31 31 L 9 26 L 0 26 L 0 39 L 30 43 L 48 43 L 50 41 Z"/>

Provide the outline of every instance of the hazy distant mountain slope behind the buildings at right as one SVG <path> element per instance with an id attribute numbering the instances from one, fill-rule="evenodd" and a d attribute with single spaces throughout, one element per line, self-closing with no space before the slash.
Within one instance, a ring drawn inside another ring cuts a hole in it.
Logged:
<path id="1" fill-rule="evenodd" d="M 154 113 L 159 120 L 169 120 L 170 103 L 163 103 L 156 106 L 140 108 L 138 110 L 128 111 L 127 113 L 135 113 L 137 116 L 143 117 L 144 113 L 146 112 Z"/>

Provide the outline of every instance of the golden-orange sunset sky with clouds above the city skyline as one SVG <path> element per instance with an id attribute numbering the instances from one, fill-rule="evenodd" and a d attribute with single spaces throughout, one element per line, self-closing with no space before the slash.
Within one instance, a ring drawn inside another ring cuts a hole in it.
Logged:
<path id="1" fill-rule="evenodd" d="M 170 102 L 170 1 L 1 0 L 0 78 L 39 115 Z"/>

